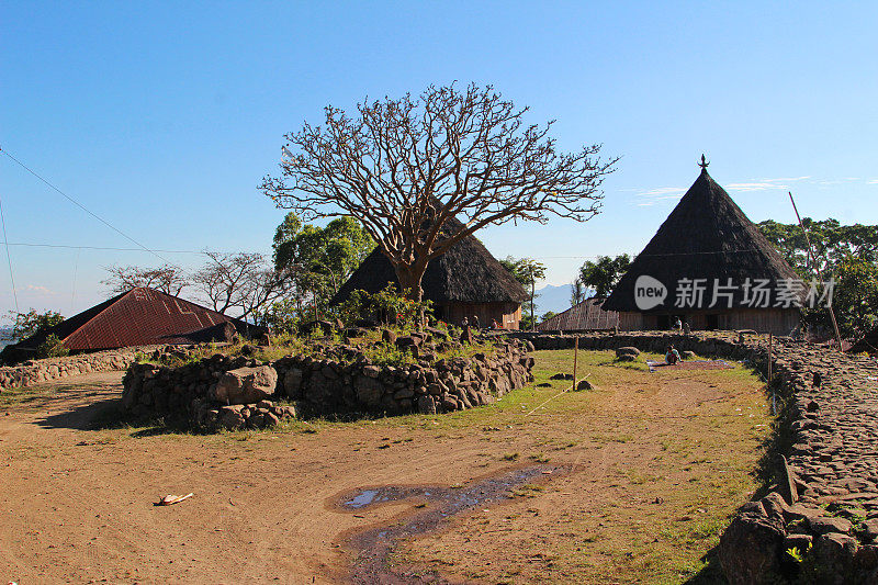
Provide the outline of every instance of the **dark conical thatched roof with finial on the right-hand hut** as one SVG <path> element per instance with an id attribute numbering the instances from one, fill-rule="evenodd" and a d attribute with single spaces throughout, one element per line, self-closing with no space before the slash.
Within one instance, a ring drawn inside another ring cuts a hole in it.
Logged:
<path id="1" fill-rule="evenodd" d="M 799 278 L 703 167 L 701 175 L 631 263 L 604 303 L 604 308 L 641 311 L 634 296 L 634 284 L 641 275 L 652 277 L 667 288 L 667 297 L 654 307 L 655 311 L 674 308 L 682 279 L 705 279 L 706 282 L 703 304 L 688 308 L 709 308 L 714 279 L 725 285 L 730 278 L 732 284 L 739 286 L 731 307 L 742 308 L 752 307 L 741 290 L 746 279 L 751 279 L 751 283 L 756 279 L 768 279 L 768 306 L 774 306 L 778 281 Z M 718 306 L 727 308 L 727 305 L 725 297 L 720 297 Z"/>

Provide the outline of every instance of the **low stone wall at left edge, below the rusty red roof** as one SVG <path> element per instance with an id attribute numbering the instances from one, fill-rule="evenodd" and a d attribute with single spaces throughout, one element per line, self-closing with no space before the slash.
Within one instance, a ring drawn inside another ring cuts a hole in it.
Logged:
<path id="1" fill-rule="evenodd" d="M 65 358 L 29 360 L 0 368 L 0 392 L 89 372 L 125 370 L 134 363 L 135 348 L 80 353 Z"/>

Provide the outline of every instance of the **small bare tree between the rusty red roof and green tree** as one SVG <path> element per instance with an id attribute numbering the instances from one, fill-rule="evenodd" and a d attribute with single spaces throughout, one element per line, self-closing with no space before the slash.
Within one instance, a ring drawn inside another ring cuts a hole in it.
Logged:
<path id="1" fill-rule="evenodd" d="M 207 265 L 195 272 L 193 282 L 219 313 L 238 310 L 240 318 L 283 299 L 292 288 L 285 270 L 275 270 L 261 254 L 207 251 Z"/>

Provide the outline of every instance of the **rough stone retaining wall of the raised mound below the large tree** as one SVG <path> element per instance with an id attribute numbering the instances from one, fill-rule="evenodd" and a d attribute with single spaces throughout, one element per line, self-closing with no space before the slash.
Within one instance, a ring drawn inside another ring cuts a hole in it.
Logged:
<path id="1" fill-rule="evenodd" d="M 510 340 L 489 355 L 405 367 L 379 367 L 356 356 L 290 356 L 263 363 L 216 355 L 179 368 L 135 363 L 125 375 L 123 406 L 137 415 L 187 416 L 205 426 L 241 427 L 246 424 L 241 418 L 247 417 L 238 415 L 245 408 L 244 414 L 250 414 L 254 408 L 221 402 L 217 389 L 225 383 L 226 374 L 268 367 L 277 382 L 266 398 L 294 403 L 306 415 L 459 410 L 493 403 L 531 381 L 533 358 L 528 356 L 528 347 Z M 273 403 L 261 408 L 258 423 L 266 424 L 267 412 L 279 416 L 271 410 L 279 408 Z"/>

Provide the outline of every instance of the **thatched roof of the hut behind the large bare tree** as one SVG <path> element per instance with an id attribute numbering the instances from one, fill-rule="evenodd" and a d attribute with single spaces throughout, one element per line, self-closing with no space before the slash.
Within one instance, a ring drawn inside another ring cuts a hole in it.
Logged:
<path id="1" fill-rule="evenodd" d="M 447 225 L 454 232 L 462 227 L 457 220 Z M 356 290 L 376 293 L 390 282 L 398 285 L 396 273 L 387 257 L 375 248 L 341 285 L 331 304 L 345 301 Z M 434 303 L 521 303 L 527 299 L 525 288 L 475 236 L 463 238 L 431 260 L 420 286 L 424 299 Z"/>

